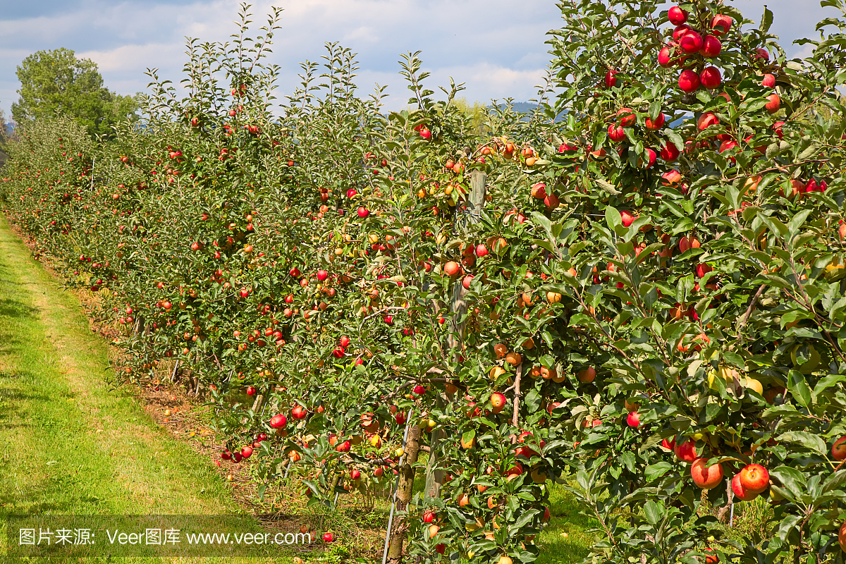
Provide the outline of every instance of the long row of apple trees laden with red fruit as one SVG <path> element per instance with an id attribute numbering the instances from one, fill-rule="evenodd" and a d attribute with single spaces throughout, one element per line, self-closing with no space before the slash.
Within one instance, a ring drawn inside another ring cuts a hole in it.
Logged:
<path id="1" fill-rule="evenodd" d="M 151 72 L 107 145 L 27 126 L 3 203 L 125 327 L 133 381 L 178 360 L 207 391 L 225 463 L 330 507 L 427 467 L 392 561 L 403 534 L 419 561 L 534 561 L 550 480 L 598 561 L 842 560 L 842 35 L 788 61 L 768 11 L 679 7 L 688 30 L 649 0 L 562 3 L 538 109 L 483 131 L 417 53 L 402 112 L 337 44 L 277 106 L 280 14 L 250 39 L 244 10 L 233 41 L 189 41 L 182 95 Z M 772 515 L 728 538 L 750 463 Z"/>

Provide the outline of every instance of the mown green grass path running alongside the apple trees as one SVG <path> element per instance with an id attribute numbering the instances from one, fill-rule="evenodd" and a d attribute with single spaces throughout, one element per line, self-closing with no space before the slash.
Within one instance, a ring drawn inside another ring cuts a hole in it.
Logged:
<path id="1" fill-rule="evenodd" d="M 208 458 L 108 384 L 107 354 L 0 216 L 0 520 L 238 512 Z"/>

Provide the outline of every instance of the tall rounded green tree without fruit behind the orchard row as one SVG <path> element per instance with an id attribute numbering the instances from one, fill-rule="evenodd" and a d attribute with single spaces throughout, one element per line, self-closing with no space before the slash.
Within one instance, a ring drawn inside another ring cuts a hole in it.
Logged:
<path id="1" fill-rule="evenodd" d="M 67 115 L 83 125 L 92 137 L 111 136 L 114 123 L 136 118 L 138 101 L 108 90 L 91 59 L 77 58 L 70 49 L 39 51 L 18 67 L 19 101 L 12 104 L 12 118 L 26 123 Z"/>

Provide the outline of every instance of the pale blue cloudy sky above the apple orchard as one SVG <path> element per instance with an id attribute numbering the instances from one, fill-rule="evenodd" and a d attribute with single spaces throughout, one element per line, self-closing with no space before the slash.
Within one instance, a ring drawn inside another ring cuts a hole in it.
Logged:
<path id="1" fill-rule="evenodd" d="M 277 93 L 298 84 L 299 63 L 319 61 L 324 43 L 338 41 L 358 53 L 357 83 L 365 95 L 374 84 L 387 85 L 389 109 L 404 107 L 408 90 L 398 75 L 404 52 L 421 51 L 427 86 L 464 82 L 469 101 L 536 95 L 549 56 L 548 30 L 559 27 L 553 0 L 255 0 L 255 29 L 264 25 L 270 6 L 284 8 L 268 60 L 282 70 Z M 750 19 L 763 13 L 762 0 L 734 0 Z M 816 22 L 838 15 L 819 0 L 769 0 L 771 31 L 788 56 L 799 37 L 816 37 Z M 66 47 L 97 63 L 105 84 L 119 94 L 145 91 L 146 68 L 178 83 L 186 36 L 225 41 L 233 33 L 235 0 L 0 0 L 0 109 L 8 117 L 18 99 L 15 70 L 33 52 Z"/>

